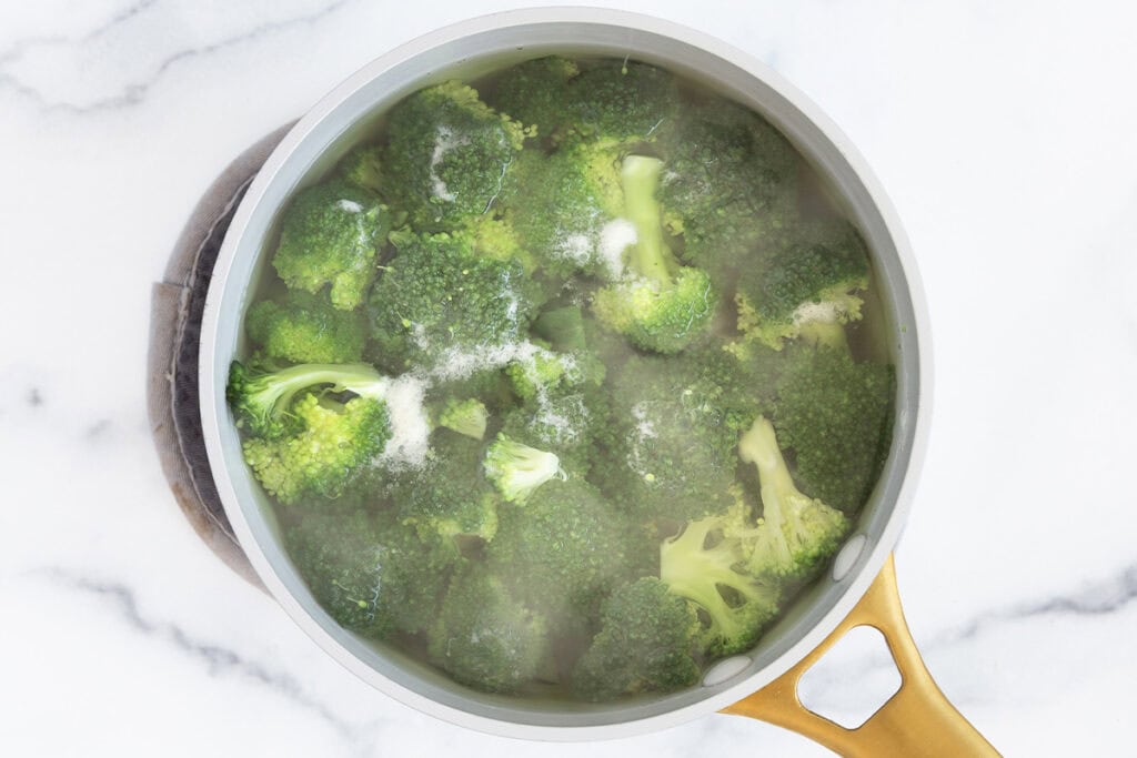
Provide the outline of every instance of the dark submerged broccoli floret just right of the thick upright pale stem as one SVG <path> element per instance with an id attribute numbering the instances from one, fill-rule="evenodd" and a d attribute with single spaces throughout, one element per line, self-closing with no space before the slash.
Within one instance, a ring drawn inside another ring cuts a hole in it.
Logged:
<path id="1" fill-rule="evenodd" d="M 749 109 L 715 99 L 686 113 L 665 142 L 659 202 L 692 266 L 727 276 L 796 218 L 797 153 Z"/>

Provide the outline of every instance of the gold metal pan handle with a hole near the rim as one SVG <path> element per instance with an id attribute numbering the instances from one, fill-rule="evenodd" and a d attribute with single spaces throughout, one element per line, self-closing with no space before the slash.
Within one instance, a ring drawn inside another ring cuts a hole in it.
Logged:
<path id="1" fill-rule="evenodd" d="M 850 730 L 806 709 L 797 697 L 797 684 L 811 666 L 857 626 L 871 626 L 885 635 L 901 672 L 901 689 L 869 720 Z M 865 595 L 824 642 L 780 677 L 722 713 L 783 726 L 848 758 L 999 755 L 948 702 L 928 673 L 904 620 L 891 556 Z"/>

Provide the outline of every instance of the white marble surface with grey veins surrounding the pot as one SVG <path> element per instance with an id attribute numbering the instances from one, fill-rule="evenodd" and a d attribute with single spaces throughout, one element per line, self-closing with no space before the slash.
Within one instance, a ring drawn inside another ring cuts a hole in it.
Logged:
<path id="1" fill-rule="evenodd" d="M 166 488 L 144 408 L 150 283 L 199 194 L 368 59 L 512 6 L 0 5 L 0 752 L 829 755 L 727 716 L 564 745 L 432 720 L 317 650 Z M 788 76 L 907 226 L 938 394 L 898 566 L 929 667 L 1009 756 L 1132 755 L 1135 11 L 746 6 L 623 5 Z M 879 673 L 854 659 L 820 700 L 853 707 L 847 682 Z"/>

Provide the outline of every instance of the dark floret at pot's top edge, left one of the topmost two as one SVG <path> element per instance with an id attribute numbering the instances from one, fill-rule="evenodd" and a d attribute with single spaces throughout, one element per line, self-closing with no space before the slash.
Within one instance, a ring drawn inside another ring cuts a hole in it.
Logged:
<path id="1" fill-rule="evenodd" d="M 566 58 L 526 60 L 498 81 L 493 105 L 522 124 L 536 126 L 543 143 L 555 144 L 566 124 L 568 81 L 579 73 L 576 64 Z"/>

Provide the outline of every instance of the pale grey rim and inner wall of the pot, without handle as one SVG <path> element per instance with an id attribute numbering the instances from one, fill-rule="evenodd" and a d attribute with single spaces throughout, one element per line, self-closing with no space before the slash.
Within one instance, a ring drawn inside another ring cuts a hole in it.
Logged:
<path id="1" fill-rule="evenodd" d="M 628 56 L 654 64 L 753 108 L 780 128 L 869 244 L 885 343 L 897 375 L 891 449 L 854 531 L 866 540 L 849 556 L 849 570 L 839 580 L 824 576 L 805 591 L 723 681 L 603 705 L 476 692 L 397 649 L 340 628 L 284 552 L 273 507 L 242 460 L 225 403 L 227 368 L 243 349 L 249 283 L 259 281 L 268 264 L 269 233 L 289 198 L 322 178 L 352 144 L 374 132 L 390 105 L 410 92 L 551 53 Z M 721 708 L 782 673 L 836 626 L 891 550 L 911 499 L 914 452 L 926 423 L 918 413 L 927 393 L 921 382 L 927 331 L 914 305 L 919 298 L 903 234 L 866 168 L 820 111 L 760 64 L 709 38 L 626 14 L 561 9 L 475 19 L 416 40 L 351 77 L 293 128 L 246 195 L 222 250 L 202 330 L 202 418 L 210 461 L 230 519 L 268 589 L 325 650 L 376 688 L 448 720 L 516 736 L 591 739 L 671 725 Z"/>

